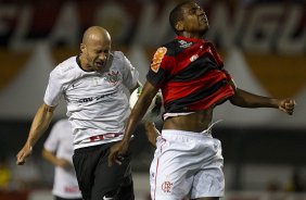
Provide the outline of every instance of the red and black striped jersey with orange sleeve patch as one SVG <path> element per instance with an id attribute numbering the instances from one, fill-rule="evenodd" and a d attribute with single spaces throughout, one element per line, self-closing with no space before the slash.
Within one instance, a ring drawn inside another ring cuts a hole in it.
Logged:
<path id="1" fill-rule="evenodd" d="M 234 93 L 220 55 L 202 39 L 177 36 L 158 48 L 146 79 L 162 89 L 166 113 L 205 110 Z"/>

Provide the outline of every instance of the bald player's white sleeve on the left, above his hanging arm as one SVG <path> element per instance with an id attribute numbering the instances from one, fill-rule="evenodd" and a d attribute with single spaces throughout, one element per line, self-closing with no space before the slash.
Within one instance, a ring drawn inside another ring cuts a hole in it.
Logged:
<path id="1" fill-rule="evenodd" d="M 61 73 L 54 68 L 49 76 L 49 83 L 44 92 L 43 101 L 50 107 L 59 104 L 63 95 L 63 84 L 61 82 Z"/>

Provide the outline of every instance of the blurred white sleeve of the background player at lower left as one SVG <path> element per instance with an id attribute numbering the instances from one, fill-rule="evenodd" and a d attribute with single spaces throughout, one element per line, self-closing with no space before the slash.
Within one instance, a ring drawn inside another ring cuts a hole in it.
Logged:
<path id="1" fill-rule="evenodd" d="M 55 123 L 53 127 L 51 128 L 51 132 L 47 138 L 47 140 L 43 143 L 43 148 L 48 151 L 55 152 L 59 143 L 60 143 L 60 137 L 59 134 L 61 132 L 60 123 Z"/>

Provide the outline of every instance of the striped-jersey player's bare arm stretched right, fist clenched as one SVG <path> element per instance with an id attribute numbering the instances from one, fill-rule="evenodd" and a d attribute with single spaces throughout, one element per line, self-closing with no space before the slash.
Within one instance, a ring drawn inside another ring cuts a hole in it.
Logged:
<path id="1" fill-rule="evenodd" d="M 235 89 L 235 95 L 230 102 L 237 107 L 243 108 L 275 108 L 290 115 L 293 114 L 295 100 L 291 98 L 276 99 L 269 97 L 257 96 L 240 88 Z"/>

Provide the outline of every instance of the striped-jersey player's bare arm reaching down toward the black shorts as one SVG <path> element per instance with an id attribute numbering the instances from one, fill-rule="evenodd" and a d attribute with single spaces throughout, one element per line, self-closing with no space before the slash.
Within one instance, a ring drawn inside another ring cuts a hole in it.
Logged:
<path id="1" fill-rule="evenodd" d="M 114 162 L 120 164 L 122 158 L 119 155 L 124 154 L 127 151 L 132 133 L 135 132 L 138 123 L 145 114 L 149 105 L 151 104 L 152 99 L 155 97 L 158 88 L 155 88 L 149 82 L 144 84 L 141 96 L 139 97 L 133 109 L 131 110 L 130 116 L 126 123 L 125 136 L 123 140 L 117 142 L 110 149 L 110 155 L 109 155 L 110 166 L 112 166 Z"/>

